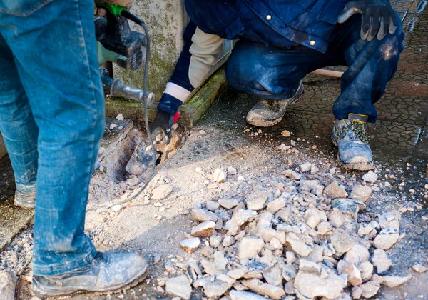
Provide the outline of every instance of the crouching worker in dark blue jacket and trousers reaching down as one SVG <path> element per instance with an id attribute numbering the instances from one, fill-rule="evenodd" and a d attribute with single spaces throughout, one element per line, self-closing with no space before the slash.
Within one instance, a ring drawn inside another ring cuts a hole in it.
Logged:
<path id="1" fill-rule="evenodd" d="M 402 24 L 389 0 L 185 0 L 190 24 L 185 46 L 152 124 L 168 142 L 178 107 L 215 64 L 225 39 L 239 39 L 225 66 L 230 86 L 263 100 L 247 114 L 254 126 L 273 126 L 303 93 L 311 71 L 344 65 L 333 106 L 332 141 L 346 169 L 373 168 L 365 123 L 376 122 L 403 50 Z"/>

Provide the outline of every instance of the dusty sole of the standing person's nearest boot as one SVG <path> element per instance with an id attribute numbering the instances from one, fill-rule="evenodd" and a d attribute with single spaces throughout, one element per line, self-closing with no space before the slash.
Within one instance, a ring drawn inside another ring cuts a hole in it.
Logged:
<path id="1" fill-rule="evenodd" d="M 127 291 L 128 289 L 133 288 L 134 286 L 138 286 L 138 284 L 141 284 L 141 282 L 146 279 L 148 275 L 148 268 L 146 269 L 146 271 L 143 272 L 143 274 L 141 274 L 140 276 L 138 276 L 136 279 L 134 279 L 133 281 L 131 281 L 130 283 L 127 284 L 120 284 L 118 286 L 113 286 L 109 289 L 106 289 L 104 291 L 90 291 L 87 289 L 79 289 L 79 290 L 68 290 L 68 291 L 52 291 L 51 293 L 49 293 L 49 291 L 36 291 L 33 287 L 33 291 L 34 294 L 38 297 L 58 297 L 60 296 L 61 299 L 67 299 L 70 298 L 72 296 L 76 296 L 78 294 L 85 294 L 85 293 L 90 293 L 96 296 L 102 296 L 102 295 L 106 295 L 106 294 L 117 294 L 120 293 L 121 291 Z M 46 289 L 46 290 L 49 290 Z"/>

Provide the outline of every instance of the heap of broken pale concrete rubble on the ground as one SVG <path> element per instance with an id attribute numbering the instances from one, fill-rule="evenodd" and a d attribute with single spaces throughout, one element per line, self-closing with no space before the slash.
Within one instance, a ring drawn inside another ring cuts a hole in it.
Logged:
<path id="1" fill-rule="evenodd" d="M 190 211 L 188 239 L 180 241 L 191 259 L 176 262 L 180 276 L 160 279 L 166 292 L 183 299 L 195 290 L 209 299 L 362 299 L 382 285 L 410 280 L 411 275 L 387 275 L 392 266 L 387 250 L 404 237 L 400 213 L 365 212 L 372 194 L 367 183 L 376 181 L 376 174 L 370 171 L 366 182 L 345 189 L 332 174 L 325 174 L 330 183 L 322 184 L 318 172 L 302 164 L 283 171 L 277 184 L 252 182 L 244 197 L 197 204 Z M 235 180 L 232 176 L 244 180 L 233 167 L 216 169 L 212 179 L 224 183 Z"/>

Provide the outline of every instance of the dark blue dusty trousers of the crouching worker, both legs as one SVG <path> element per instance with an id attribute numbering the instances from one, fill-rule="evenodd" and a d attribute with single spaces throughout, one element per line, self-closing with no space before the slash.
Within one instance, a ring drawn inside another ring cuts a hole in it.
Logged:
<path id="1" fill-rule="evenodd" d="M 397 71 L 403 50 L 404 33 L 397 15 L 397 31 L 382 41 L 360 39 L 361 16 L 355 15 L 337 24 L 325 54 L 295 46 L 281 49 L 251 41 L 243 34 L 228 59 L 225 72 L 228 82 L 239 91 L 281 100 L 295 94 L 299 81 L 311 71 L 325 66 L 349 66 L 341 81 L 341 94 L 333 106 L 336 119 L 348 114 L 365 114 L 375 122 L 374 103 L 380 99 L 387 83 Z"/>

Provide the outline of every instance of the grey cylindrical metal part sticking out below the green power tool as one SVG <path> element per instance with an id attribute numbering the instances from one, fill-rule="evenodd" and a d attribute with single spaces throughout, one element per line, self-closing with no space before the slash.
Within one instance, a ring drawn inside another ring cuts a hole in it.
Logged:
<path id="1" fill-rule="evenodd" d="M 104 86 L 110 86 L 111 96 L 123 96 L 123 98 L 135 100 L 141 103 L 144 103 L 144 91 L 142 89 L 137 89 L 133 86 L 128 86 L 123 84 L 120 79 L 111 79 L 108 76 L 101 75 L 101 81 Z M 147 104 L 153 104 L 155 100 L 155 94 L 151 92 L 146 92 L 146 101 Z"/>

